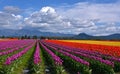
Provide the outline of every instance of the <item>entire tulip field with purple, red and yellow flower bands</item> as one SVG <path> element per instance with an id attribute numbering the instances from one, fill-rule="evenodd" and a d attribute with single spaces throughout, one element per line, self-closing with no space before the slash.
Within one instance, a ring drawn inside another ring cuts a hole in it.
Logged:
<path id="1" fill-rule="evenodd" d="M 2 40 L 0 74 L 120 74 L 120 42 Z"/>

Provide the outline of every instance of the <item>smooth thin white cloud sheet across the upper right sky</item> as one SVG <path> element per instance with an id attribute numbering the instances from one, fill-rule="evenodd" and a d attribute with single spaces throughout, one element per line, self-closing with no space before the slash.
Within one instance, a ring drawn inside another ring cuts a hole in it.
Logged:
<path id="1" fill-rule="evenodd" d="M 67 8 L 57 8 L 62 15 L 80 19 L 99 19 L 100 22 L 118 22 L 120 20 L 120 4 L 77 3 Z"/>

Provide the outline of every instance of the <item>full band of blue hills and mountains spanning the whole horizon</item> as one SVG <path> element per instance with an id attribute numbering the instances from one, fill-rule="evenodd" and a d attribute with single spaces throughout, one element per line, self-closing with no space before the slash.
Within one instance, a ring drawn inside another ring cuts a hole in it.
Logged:
<path id="1" fill-rule="evenodd" d="M 97 40 L 120 40 L 120 34 L 111 34 L 107 36 L 92 36 L 86 33 L 80 33 L 78 35 L 74 34 L 62 34 L 62 33 L 52 33 L 52 32 L 41 32 L 38 30 L 11 30 L 4 29 L 0 30 L 0 36 L 8 36 L 8 37 L 18 37 L 18 36 L 47 36 L 47 37 L 67 37 L 69 39 L 97 39 Z M 65 39 L 67 39 L 65 38 Z"/>

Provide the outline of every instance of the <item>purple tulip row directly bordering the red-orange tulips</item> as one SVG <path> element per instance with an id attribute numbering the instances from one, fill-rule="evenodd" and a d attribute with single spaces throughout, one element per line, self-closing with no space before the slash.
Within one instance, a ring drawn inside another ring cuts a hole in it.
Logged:
<path id="1" fill-rule="evenodd" d="M 46 42 L 44 42 L 44 43 L 46 43 Z M 106 57 L 107 60 L 120 62 L 120 58 L 118 58 L 118 57 L 105 55 L 105 54 L 102 54 L 102 53 L 99 53 L 99 52 L 93 52 L 93 51 L 90 51 L 90 50 L 71 48 L 71 47 L 67 47 L 67 46 L 63 46 L 63 45 L 57 45 L 57 44 L 54 44 L 54 43 L 47 43 L 47 44 L 52 45 L 56 48 L 60 47 L 61 49 L 65 49 L 65 50 L 68 50 L 68 51 L 70 50 L 70 52 L 84 53 L 84 54 L 87 54 L 89 56 L 95 56 L 97 58 L 102 58 L 104 56 L 104 57 Z M 102 61 L 102 62 L 105 62 L 105 61 Z M 112 64 L 113 63 L 111 63 L 111 65 Z"/>

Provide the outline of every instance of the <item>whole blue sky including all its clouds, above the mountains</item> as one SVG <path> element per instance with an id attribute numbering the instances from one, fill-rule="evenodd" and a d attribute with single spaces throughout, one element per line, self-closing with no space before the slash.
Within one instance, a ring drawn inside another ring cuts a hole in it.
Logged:
<path id="1" fill-rule="evenodd" d="M 120 33 L 120 0 L 0 0 L 0 29 Z"/>

